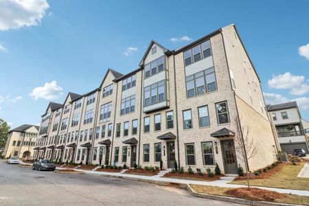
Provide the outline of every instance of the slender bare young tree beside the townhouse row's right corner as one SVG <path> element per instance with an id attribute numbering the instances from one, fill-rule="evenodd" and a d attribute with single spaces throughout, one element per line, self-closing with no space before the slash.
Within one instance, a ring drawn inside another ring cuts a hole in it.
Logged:
<path id="1" fill-rule="evenodd" d="M 250 179 L 249 179 L 249 159 L 253 158 L 258 152 L 258 146 L 254 139 L 249 138 L 250 126 L 242 127 L 240 125 L 240 119 L 235 118 L 236 122 L 236 156 L 238 159 L 244 162 L 244 166 L 247 174 L 247 184 L 250 190 Z"/>

